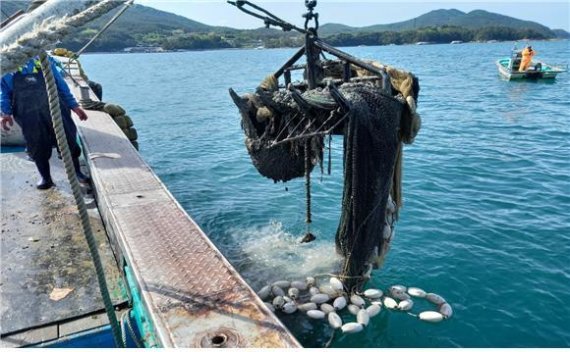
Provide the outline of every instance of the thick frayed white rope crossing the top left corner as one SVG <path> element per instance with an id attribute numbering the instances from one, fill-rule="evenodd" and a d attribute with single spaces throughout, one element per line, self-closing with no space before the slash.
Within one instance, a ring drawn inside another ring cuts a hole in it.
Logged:
<path id="1" fill-rule="evenodd" d="M 2 48 L 0 51 L 2 75 L 17 70 L 30 58 L 40 55 L 50 45 L 60 41 L 74 29 L 102 16 L 124 2 L 124 0 L 104 0 L 72 17 L 44 20 L 32 31 L 19 37 L 14 43 Z"/>

